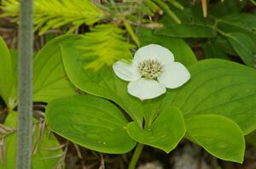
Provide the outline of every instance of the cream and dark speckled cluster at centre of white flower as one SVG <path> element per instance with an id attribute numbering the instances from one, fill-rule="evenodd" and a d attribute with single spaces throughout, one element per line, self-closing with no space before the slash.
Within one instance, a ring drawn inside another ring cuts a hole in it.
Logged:
<path id="1" fill-rule="evenodd" d="M 163 66 L 156 59 L 147 59 L 139 63 L 139 72 L 143 77 L 154 79 L 163 71 Z"/>

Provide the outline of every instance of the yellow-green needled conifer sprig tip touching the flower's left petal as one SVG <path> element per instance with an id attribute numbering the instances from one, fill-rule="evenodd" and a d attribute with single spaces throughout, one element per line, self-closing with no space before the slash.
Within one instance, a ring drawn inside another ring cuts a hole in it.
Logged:
<path id="1" fill-rule="evenodd" d="M 131 48 L 123 35 L 125 31 L 113 24 L 96 25 L 84 35 L 84 57 L 91 59 L 84 69 L 99 70 L 103 65 L 113 65 L 119 59 L 131 59 Z"/>

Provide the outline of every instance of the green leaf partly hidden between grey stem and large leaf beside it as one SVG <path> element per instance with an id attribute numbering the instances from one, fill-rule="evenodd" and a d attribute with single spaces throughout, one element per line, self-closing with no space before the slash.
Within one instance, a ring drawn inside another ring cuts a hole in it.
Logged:
<path id="1" fill-rule="evenodd" d="M 68 82 L 62 64 L 60 43 L 74 42 L 79 39 L 76 35 L 57 37 L 46 44 L 34 59 L 33 70 L 33 100 L 49 102 L 75 94 Z"/>

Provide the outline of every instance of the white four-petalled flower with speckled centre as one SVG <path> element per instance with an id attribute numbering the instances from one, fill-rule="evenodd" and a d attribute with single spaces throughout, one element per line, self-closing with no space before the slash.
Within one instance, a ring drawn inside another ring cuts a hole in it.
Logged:
<path id="1" fill-rule="evenodd" d="M 131 63 L 118 61 L 114 73 L 128 81 L 128 93 L 143 100 L 166 93 L 166 88 L 177 88 L 189 81 L 190 74 L 184 65 L 174 62 L 167 48 L 150 44 L 139 48 Z"/>

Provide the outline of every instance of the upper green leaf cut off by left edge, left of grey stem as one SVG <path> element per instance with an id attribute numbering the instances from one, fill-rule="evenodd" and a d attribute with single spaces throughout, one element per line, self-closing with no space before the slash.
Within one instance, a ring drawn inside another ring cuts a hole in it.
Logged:
<path id="1" fill-rule="evenodd" d="M 9 105 L 9 97 L 11 96 L 15 79 L 9 48 L 2 37 L 0 37 L 0 60 L 0 95 L 5 103 Z"/>

